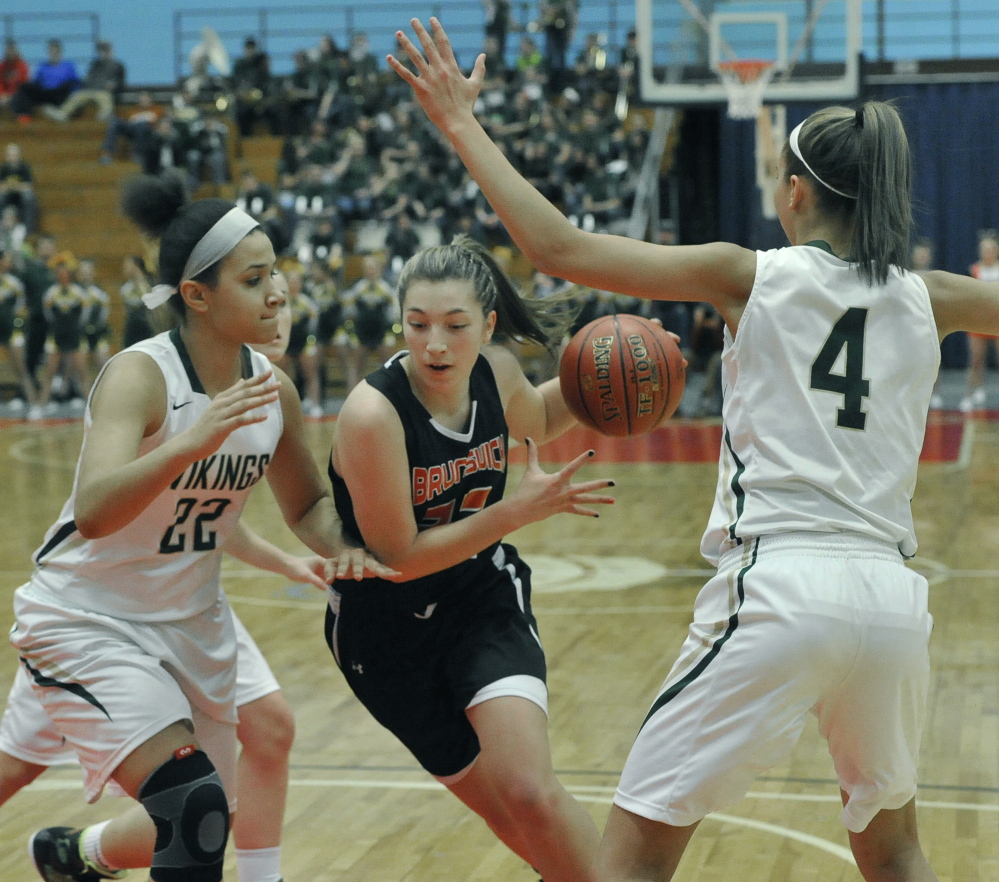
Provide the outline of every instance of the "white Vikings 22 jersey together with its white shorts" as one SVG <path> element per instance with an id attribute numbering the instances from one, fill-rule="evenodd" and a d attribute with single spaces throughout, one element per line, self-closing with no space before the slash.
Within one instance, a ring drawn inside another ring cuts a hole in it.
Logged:
<path id="1" fill-rule="evenodd" d="M 143 456 L 193 425 L 211 399 L 176 330 L 125 351 L 152 358 L 166 382 L 166 418 L 142 440 Z M 243 347 L 244 377 L 269 369 L 263 355 Z M 108 536 L 85 539 L 77 531 L 74 481 L 35 552 L 30 582 L 15 592 L 11 642 L 22 664 L 37 684 L 54 687 L 42 690 L 43 703 L 64 720 L 61 732 L 81 759 L 101 757 L 84 764 L 91 801 L 136 745 L 173 721 L 193 719 L 209 751 L 235 738 L 236 633 L 219 577 L 225 540 L 281 438 L 280 403 L 265 408 L 265 420 L 232 432 Z M 88 406 L 84 445 L 89 424 Z M 157 693 L 150 676 L 165 685 L 172 678 L 182 694 Z M 70 706 L 72 723 L 65 722 Z M 234 768 L 219 771 L 230 783 Z"/>

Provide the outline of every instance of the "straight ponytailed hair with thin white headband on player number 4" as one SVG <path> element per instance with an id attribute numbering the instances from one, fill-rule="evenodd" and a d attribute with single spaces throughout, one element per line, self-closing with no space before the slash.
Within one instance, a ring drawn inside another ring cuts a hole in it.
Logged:
<path id="1" fill-rule="evenodd" d="M 868 101 L 856 110 L 827 107 L 801 127 L 787 174 L 816 182 L 821 211 L 853 227 L 850 262 L 869 285 L 884 284 L 908 262 L 912 227 L 909 143 L 898 112 Z"/>

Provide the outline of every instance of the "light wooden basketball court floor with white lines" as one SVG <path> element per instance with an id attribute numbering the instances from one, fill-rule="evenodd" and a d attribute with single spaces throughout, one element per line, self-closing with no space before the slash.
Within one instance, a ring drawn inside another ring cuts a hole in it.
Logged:
<path id="1" fill-rule="evenodd" d="M 933 416 L 914 501 L 921 544 L 913 566 L 931 579 L 936 620 L 919 822 L 934 869 L 954 882 L 999 882 L 999 422 L 988 416 Z M 331 428 L 309 423 L 320 461 Z M 599 520 L 562 515 L 510 538 L 535 569 L 555 767 L 602 828 L 634 733 L 707 575 L 697 548 L 718 427 L 681 420 L 646 439 L 598 440 L 588 472 L 617 481 L 617 505 Z M 69 491 L 79 443 L 78 422 L 0 424 L 0 584 L 8 610 Z M 592 443 L 577 430 L 543 454 L 564 460 Z M 512 468 L 513 481 L 520 469 Z M 254 493 L 246 519 L 296 547 L 266 489 Z M 223 581 L 296 711 L 282 858 L 288 882 L 536 879 L 351 696 L 323 641 L 318 592 L 234 561 Z M 0 651 L 0 688 L 15 666 L 13 650 Z M 36 878 L 25 843 L 38 827 L 83 825 L 128 807 L 109 798 L 85 805 L 79 777 L 74 768 L 51 770 L 0 808 L 0 879 Z M 790 762 L 705 820 L 676 878 L 857 880 L 838 815 L 832 764 L 810 725 Z M 235 879 L 231 856 L 226 874 Z"/>

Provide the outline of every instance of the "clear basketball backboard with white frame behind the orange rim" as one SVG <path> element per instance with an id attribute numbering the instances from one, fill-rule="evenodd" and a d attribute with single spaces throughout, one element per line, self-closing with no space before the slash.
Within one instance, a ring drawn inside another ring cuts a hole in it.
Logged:
<path id="1" fill-rule="evenodd" d="M 862 0 L 635 0 L 639 95 L 725 103 L 719 62 L 773 62 L 767 103 L 850 101 L 860 90 Z"/>

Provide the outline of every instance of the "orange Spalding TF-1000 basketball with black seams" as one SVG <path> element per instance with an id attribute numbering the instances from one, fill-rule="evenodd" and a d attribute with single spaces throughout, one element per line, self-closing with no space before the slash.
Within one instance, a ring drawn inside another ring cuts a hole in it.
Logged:
<path id="1" fill-rule="evenodd" d="M 673 415 L 686 366 L 676 341 L 637 315 L 608 315 L 570 341 L 559 364 L 569 410 L 604 435 L 642 435 Z"/>

